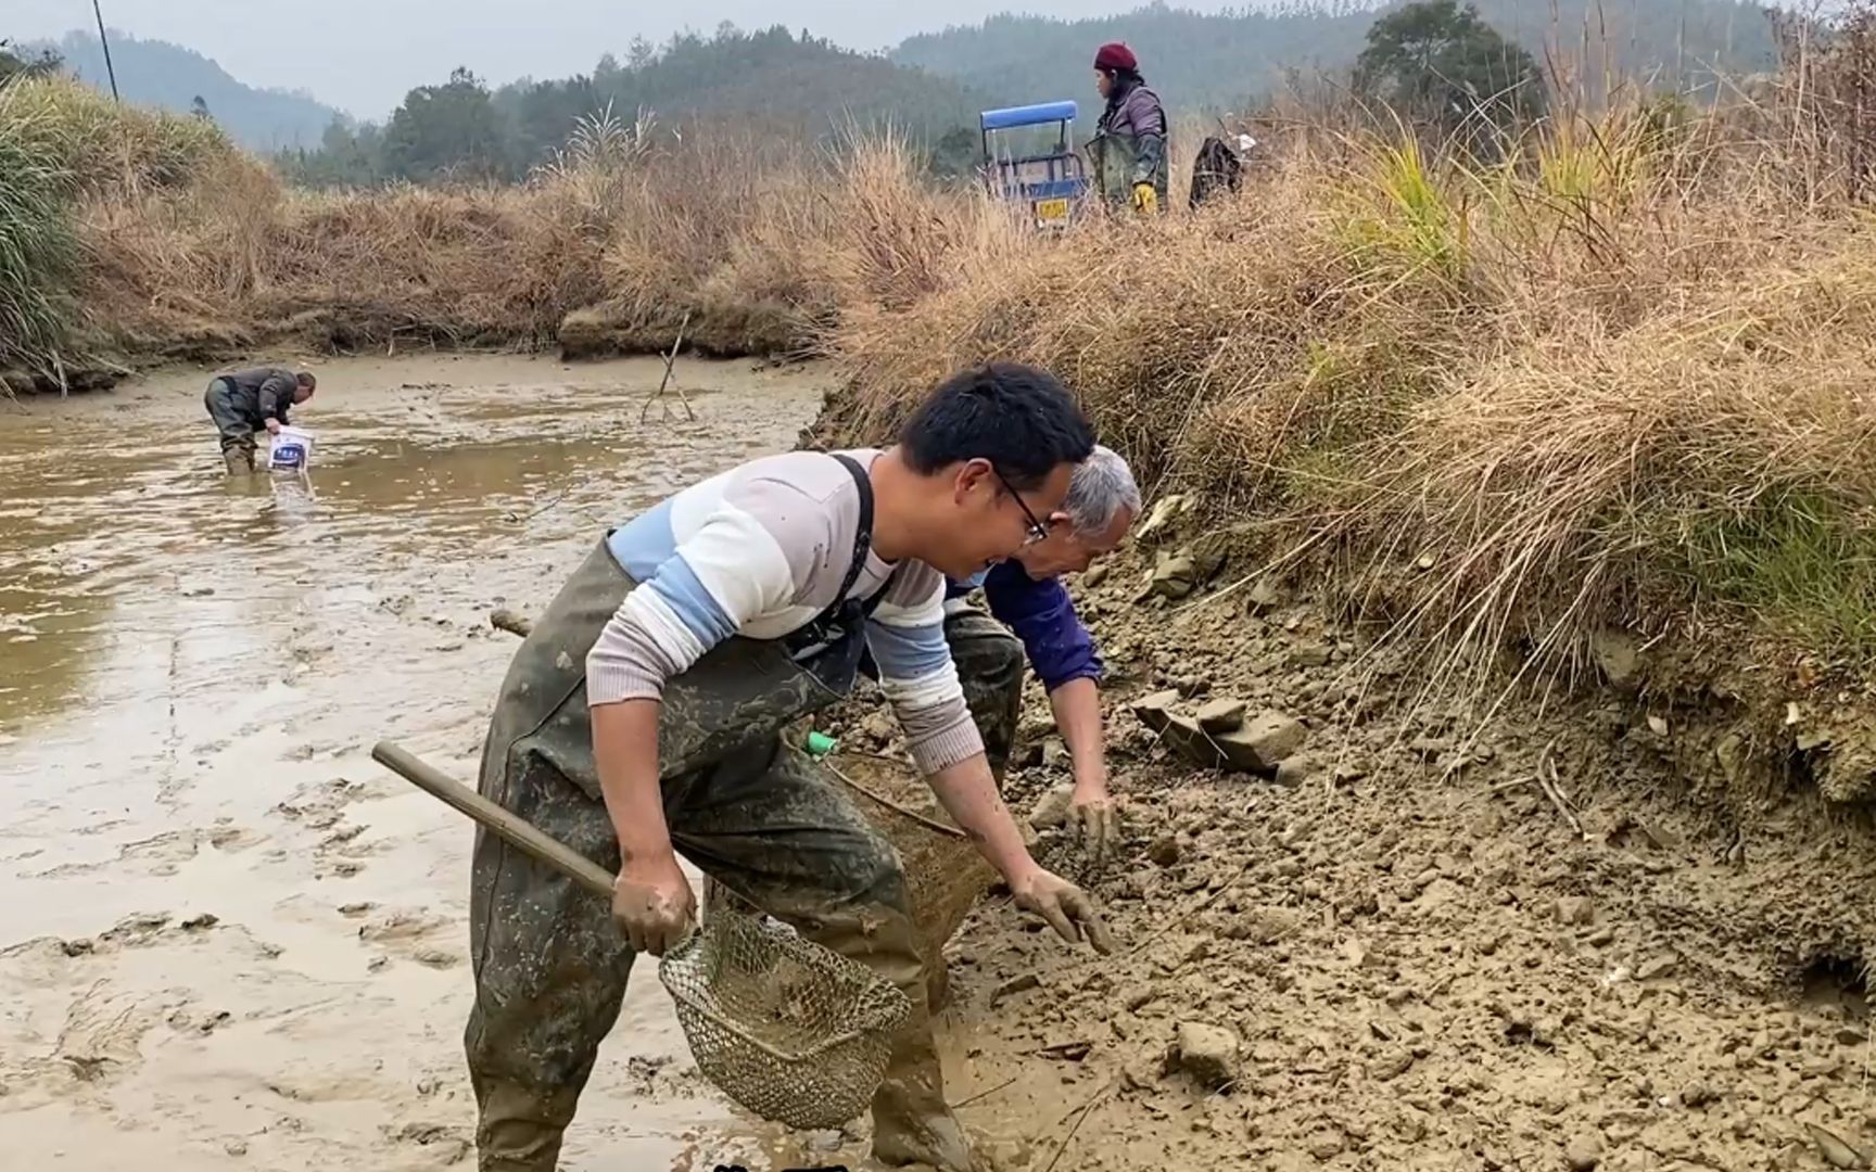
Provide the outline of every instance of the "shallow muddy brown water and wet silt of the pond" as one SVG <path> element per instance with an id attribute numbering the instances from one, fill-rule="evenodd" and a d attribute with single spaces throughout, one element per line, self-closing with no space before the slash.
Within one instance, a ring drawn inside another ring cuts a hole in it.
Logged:
<path id="1" fill-rule="evenodd" d="M 311 476 L 233 486 L 199 371 L 0 403 L 0 1163 L 473 1163 L 471 831 L 366 752 L 471 778 L 514 649 L 488 611 L 820 392 L 692 364 L 696 422 L 642 424 L 658 373 L 328 364 Z M 563 1166 L 754 1142 L 643 969 Z"/>

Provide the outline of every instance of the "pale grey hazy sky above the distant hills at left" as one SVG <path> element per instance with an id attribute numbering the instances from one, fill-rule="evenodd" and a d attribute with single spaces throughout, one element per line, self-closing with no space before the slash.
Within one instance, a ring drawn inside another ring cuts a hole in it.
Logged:
<path id="1" fill-rule="evenodd" d="M 565 77 L 598 54 L 625 56 L 634 36 L 788 24 L 854 49 L 972 24 L 1019 8 L 1039 15 L 1127 11 L 1144 0 L 101 0 L 111 28 L 176 41 L 248 84 L 310 90 L 364 118 L 383 118 L 416 84 L 469 66 L 490 83 Z M 1189 4 L 1219 9 L 1225 4 Z M 60 38 L 92 28 L 90 0 L 0 0 L 0 36 Z"/>

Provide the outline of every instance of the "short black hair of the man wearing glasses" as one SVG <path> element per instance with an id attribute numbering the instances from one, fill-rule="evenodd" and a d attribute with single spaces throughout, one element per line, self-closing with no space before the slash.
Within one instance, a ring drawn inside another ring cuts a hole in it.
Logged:
<path id="1" fill-rule="evenodd" d="M 1094 428 L 1054 375 L 992 362 L 951 375 L 899 431 L 912 471 L 930 476 L 989 459 L 1009 488 L 1039 488 L 1062 463 L 1094 452 Z"/>

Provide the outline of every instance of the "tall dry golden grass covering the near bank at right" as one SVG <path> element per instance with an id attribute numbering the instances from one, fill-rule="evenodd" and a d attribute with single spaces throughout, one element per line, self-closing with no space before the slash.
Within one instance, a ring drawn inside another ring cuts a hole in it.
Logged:
<path id="1" fill-rule="evenodd" d="M 1872 225 L 1762 131 L 1625 109 L 1501 167 L 1317 135 L 1229 206 L 842 315 L 829 429 L 1030 360 L 1146 486 L 1332 568 L 1439 675 L 1505 647 L 1570 673 L 1615 628 L 1750 660 L 1780 705 L 1788 677 L 1867 679 Z"/>

